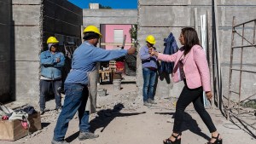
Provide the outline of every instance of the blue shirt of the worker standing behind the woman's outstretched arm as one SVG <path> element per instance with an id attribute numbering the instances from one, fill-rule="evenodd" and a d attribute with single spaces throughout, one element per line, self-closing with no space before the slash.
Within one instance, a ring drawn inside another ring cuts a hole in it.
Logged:
<path id="1" fill-rule="evenodd" d="M 145 45 L 140 49 L 140 58 L 141 58 L 142 63 L 143 63 L 143 68 L 145 68 L 145 67 L 157 68 L 156 56 L 150 56 L 149 55 L 148 46 Z"/>

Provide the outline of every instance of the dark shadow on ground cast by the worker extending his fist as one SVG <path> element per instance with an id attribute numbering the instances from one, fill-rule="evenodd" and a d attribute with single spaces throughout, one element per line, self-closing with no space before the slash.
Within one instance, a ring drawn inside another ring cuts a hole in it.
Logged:
<path id="1" fill-rule="evenodd" d="M 125 108 L 124 105 L 119 103 L 115 105 L 113 109 L 106 109 L 106 110 L 101 110 L 97 112 L 98 117 L 90 121 L 90 131 L 94 133 L 95 130 L 102 128 L 101 132 L 103 132 L 105 128 L 108 126 L 108 124 L 110 124 L 110 122 L 116 117 L 129 117 L 129 116 L 135 116 L 138 114 L 146 113 L 146 112 L 121 113 L 120 110 L 122 110 L 123 108 Z M 67 137 L 66 141 L 69 141 L 69 142 L 73 141 L 78 136 L 79 136 L 79 131 Z"/>

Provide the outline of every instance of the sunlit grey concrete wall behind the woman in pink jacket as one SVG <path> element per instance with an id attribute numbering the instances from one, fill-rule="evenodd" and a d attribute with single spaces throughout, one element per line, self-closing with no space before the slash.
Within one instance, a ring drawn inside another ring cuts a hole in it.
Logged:
<path id="1" fill-rule="evenodd" d="M 216 2 L 218 4 L 218 50 L 220 51 L 220 66 L 222 68 L 223 94 L 227 96 L 229 88 L 232 19 L 233 16 L 236 16 L 237 24 L 247 20 L 255 19 L 256 1 L 221 0 Z M 196 21 L 199 26 L 199 37 L 201 31 L 200 15 L 207 14 L 207 10 L 209 11 L 208 19 L 210 32 L 208 35 L 208 43 L 209 49 L 212 49 L 212 0 L 139 0 L 138 3 L 138 41 L 140 46 L 146 44 L 145 37 L 147 37 L 149 34 L 152 34 L 156 38 L 156 49 L 160 52 L 163 52 L 165 48 L 163 45 L 163 40 L 165 37 L 168 37 L 170 32 L 172 32 L 176 38 L 178 47 L 181 47 L 178 41 L 181 29 L 184 26 L 195 27 L 194 14 L 195 9 L 197 9 Z M 253 35 L 252 31 L 251 34 Z M 211 57 L 210 60 L 212 60 Z M 248 62 L 253 62 L 252 60 L 253 59 Z M 212 67 L 211 62 L 212 61 L 210 61 L 210 66 Z M 141 61 L 139 57 L 137 57 L 138 96 L 143 95 L 142 76 L 143 73 Z M 157 81 L 156 96 L 177 97 L 180 94 L 181 90 L 183 89 L 183 83 L 173 84 L 171 77 L 171 75 L 160 75 L 160 78 L 158 78 Z M 250 78 L 248 78 L 248 80 L 249 79 Z M 253 89 L 249 90 L 249 93 L 253 93 Z"/>

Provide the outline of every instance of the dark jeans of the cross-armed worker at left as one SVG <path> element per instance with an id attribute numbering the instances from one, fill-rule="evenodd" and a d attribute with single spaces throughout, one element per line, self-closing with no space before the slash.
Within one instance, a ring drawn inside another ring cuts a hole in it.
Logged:
<path id="1" fill-rule="evenodd" d="M 61 79 L 58 80 L 40 80 L 40 110 L 45 109 L 45 95 L 49 95 L 49 88 L 52 85 L 53 92 L 55 94 L 56 109 L 61 107 Z"/>

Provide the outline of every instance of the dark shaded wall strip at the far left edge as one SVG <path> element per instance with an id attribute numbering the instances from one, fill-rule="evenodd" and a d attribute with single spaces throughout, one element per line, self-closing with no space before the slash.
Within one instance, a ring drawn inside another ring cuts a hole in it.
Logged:
<path id="1" fill-rule="evenodd" d="M 0 0 L 0 102 L 9 101 L 11 0 Z"/>

